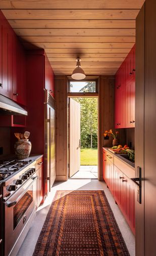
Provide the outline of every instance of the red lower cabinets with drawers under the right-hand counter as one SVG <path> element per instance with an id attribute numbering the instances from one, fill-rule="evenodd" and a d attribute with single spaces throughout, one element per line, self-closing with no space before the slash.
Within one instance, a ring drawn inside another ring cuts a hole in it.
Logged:
<path id="1" fill-rule="evenodd" d="M 107 151 L 105 151 L 105 154 L 106 158 L 103 156 L 103 159 L 106 160 L 106 163 L 103 163 L 105 178 L 103 177 L 103 179 L 106 181 L 133 234 L 135 234 L 135 184 L 130 179 L 131 176 L 134 176 L 134 170 Z M 116 163 L 118 163 L 118 167 L 115 165 Z"/>

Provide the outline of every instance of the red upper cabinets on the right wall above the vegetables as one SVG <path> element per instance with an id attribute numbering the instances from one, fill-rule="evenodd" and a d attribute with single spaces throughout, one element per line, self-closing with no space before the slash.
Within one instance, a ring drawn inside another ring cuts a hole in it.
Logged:
<path id="1" fill-rule="evenodd" d="M 116 73 L 115 129 L 135 127 L 135 46 Z"/>

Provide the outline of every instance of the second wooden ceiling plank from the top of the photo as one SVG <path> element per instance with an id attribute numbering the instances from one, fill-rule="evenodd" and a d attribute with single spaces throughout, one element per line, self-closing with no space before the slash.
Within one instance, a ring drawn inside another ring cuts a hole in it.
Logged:
<path id="1" fill-rule="evenodd" d="M 5 17 L 8 20 L 102 20 L 102 19 L 111 19 L 111 20 L 135 20 L 139 10 L 137 9 L 125 9 L 125 10 L 115 10 L 115 9 L 99 9 L 97 10 L 37 10 L 37 9 L 29 9 L 29 10 L 2 10 Z"/>

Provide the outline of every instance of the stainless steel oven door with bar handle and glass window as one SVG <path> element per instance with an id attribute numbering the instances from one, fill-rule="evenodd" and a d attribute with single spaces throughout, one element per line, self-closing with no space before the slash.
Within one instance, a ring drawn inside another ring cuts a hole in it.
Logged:
<path id="1" fill-rule="evenodd" d="M 6 202 L 5 210 L 5 255 L 9 255 L 14 248 L 21 232 L 29 222 L 35 210 L 36 180 L 29 179 Z"/>

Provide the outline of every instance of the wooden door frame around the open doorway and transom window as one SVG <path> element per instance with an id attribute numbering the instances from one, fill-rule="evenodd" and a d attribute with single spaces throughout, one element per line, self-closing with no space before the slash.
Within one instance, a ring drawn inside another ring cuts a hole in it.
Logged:
<path id="1" fill-rule="evenodd" d="M 69 87 L 69 80 L 71 80 L 70 78 L 68 79 L 68 87 Z M 97 176 L 98 176 L 98 180 L 100 180 L 100 145 L 99 145 L 99 99 L 98 99 L 98 88 L 99 88 L 99 77 L 95 77 L 93 79 L 93 77 L 91 77 L 89 79 L 89 77 L 87 77 L 87 79 L 85 80 L 96 80 L 96 86 L 97 86 L 97 92 L 96 93 L 67 93 L 67 97 L 69 98 L 97 98 Z M 83 81 L 85 81 L 83 80 Z M 70 162 L 70 144 L 69 144 L 69 100 L 68 100 L 68 175 L 69 175 L 69 162 Z M 67 176 L 68 176 L 67 175 Z"/>

